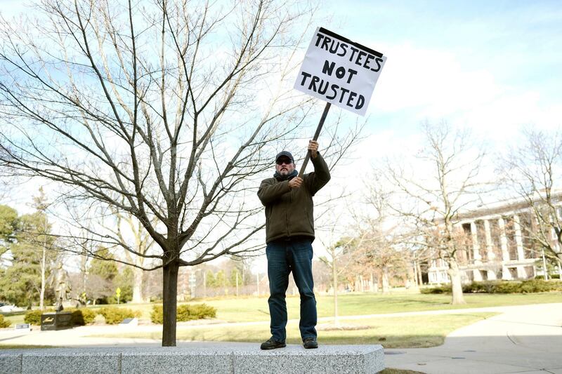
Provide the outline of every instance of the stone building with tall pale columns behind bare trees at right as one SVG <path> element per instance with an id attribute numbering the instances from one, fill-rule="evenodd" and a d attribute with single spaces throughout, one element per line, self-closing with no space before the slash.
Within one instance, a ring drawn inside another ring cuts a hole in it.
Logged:
<path id="1" fill-rule="evenodd" d="M 562 197 L 562 194 L 561 194 Z M 556 208 L 562 215 L 562 201 Z M 455 228 L 459 233 L 460 251 L 457 256 L 462 280 L 532 279 L 537 263 L 542 262 L 542 250 L 532 240 L 537 223 L 527 201 L 507 201 L 495 206 L 476 209 L 459 217 Z M 553 245 L 558 246 L 554 232 Z M 429 283 L 448 283 L 447 263 L 431 260 Z"/>

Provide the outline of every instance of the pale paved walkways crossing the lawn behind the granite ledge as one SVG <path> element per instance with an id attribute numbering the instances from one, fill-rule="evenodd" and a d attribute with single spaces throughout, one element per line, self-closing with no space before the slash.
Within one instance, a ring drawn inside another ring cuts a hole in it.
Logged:
<path id="1" fill-rule="evenodd" d="M 562 303 L 490 307 L 473 309 L 407 312 L 366 316 L 346 316 L 345 319 L 457 314 L 459 312 L 500 312 L 470 326 L 459 328 L 440 347 L 418 349 L 385 349 L 386 367 L 417 370 L 424 373 L 556 373 L 562 374 Z M 329 319 L 320 319 L 328 321 Z M 251 322 L 246 325 L 268 323 Z M 224 326 L 227 323 L 214 323 Z M 231 323 L 228 323 L 229 325 Z M 208 325 L 207 325 L 208 326 Z M 190 326 L 199 328 L 202 326 Z M 183 328 L 178 323 L 178 328 Z M 159 332 L 161 326 L 137 326 L 133 330 Z M 131 338 L 90 338 L 89 335 L 116 333 L 131 328 L 117 326 L 82 326 L 70 330 L 22 333 L 0 330 L 0 344 L 64 345 L 65 347 L 138 347 L 159 346 L 160 340 Z M 235 343 L 180 342 L 193 345 L 232 345 Z M 246 344 L 247 343 L 241 343 Z M 257 345 L 256 345 L 257 347 Z M 257 348 L 256 348 L 257 349 Z"/>

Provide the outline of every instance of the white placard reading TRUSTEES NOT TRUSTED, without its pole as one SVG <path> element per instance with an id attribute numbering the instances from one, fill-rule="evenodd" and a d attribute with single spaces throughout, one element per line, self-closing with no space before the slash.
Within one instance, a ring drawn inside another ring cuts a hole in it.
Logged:
<path id="1" fill-rule="evenodd" d="M 384 62 L 382 53 L 319 27 L 294 88 L 365 116 Z"/>

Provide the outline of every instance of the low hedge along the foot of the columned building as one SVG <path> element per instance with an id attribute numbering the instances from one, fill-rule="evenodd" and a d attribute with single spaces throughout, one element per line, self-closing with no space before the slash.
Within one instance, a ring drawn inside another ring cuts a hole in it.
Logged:
<path id="1" fill-rule="evenodd" d="M 528 281 L 471 282 L 462 286 L 463 293 L 537 293 L 549 291 L 562 291 L 562 282 L 530 279 Z M 422 288 L 421 293 L 451 293 L 451 286 L 446 285 L 432 288 Z"/>

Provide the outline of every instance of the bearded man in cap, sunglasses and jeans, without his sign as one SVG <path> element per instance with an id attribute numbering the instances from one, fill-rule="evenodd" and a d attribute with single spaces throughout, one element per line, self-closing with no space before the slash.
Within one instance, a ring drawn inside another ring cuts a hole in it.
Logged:
<path id="1" fill-rule="evenodd" d="M 275 174 L 261 182 L 258 196 L 266 207 L 266 255 L 268 258 L 268 299 L 271 338 L 261 349 L 285 347 L 287 304 L 285 293 L 289 274 L 301 295 L 299 329 L 303 346 L 318 348 L 316 342 L 316 299 L 312 276 L 314 240 L 313 196 L 330 179 L 329 169 L 318 152 L 318 142 L 308 143 L 314 172 L 298 176 L 292 154 L 275 157 Z"/>

